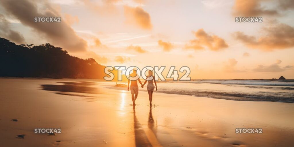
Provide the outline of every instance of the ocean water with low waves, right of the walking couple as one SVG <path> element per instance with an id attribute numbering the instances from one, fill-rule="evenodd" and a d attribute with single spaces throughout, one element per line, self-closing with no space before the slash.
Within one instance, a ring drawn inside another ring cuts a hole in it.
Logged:
<path id="1" fill-rule="evenodd" d="M 191 80 L 158 82 L 161 93 L 237 101 L 294 103 L 294 80 Z"/>

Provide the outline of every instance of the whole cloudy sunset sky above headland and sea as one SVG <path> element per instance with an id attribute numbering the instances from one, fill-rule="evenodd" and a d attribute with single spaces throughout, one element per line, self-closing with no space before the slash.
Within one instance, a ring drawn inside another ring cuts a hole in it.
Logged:
<path id="1" fill-rule="evenodd" d="M 0 37 L 104 66 L 188 66 L 192 79 L 294 79 L 291 0 L 2 0 Z M 61 22 L 34 22 L 34 17 Z M 262 17 L 263 22 L 235 22 Z"/>

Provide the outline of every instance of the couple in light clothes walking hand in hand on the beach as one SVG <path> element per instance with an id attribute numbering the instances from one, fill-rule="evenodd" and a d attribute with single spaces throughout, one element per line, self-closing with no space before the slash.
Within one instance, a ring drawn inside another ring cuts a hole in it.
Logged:
<path id="1" fill-rule="evenodd" d="M 139 81 L 142 88 L 144 87 L 144 85 L 148 81 L 147 91 L 148 91 L 149 102 L 150 102 L 150 106 L 151 106 L 152 105 L 152 95 L 153 95 L 154 88 L 156 88 L 156 91 L 157 91 L 157 85 L 156 85 L 155 77 L 153 76 L 153 72 L 151 70 L 148 70 L 148 76 L 145 79 L 144 84 L 142 84 L 142 82 L 140 80 L 140 77 L 137 74 L 136 69 L 133 69 L 133 73 L 131 73 L 130 76 L 135 77 L 134 79 L 136 79 L 136 80 L 133 80 L 133 81 L 130 80 L 130 79 L 128 80 L 128 91 L 131 89 L 133 106 L 135 106 L 135 101 L 136 101 L 136 99 L 138 97 L 138 93 L 139 93 L 139 87 L 138 87 L 137 81 Z M 130 81 L 131 81 L 131 87 L 129 87 Z M 153 85 L 153 81 L 154 81 L 155 87 Z"/>

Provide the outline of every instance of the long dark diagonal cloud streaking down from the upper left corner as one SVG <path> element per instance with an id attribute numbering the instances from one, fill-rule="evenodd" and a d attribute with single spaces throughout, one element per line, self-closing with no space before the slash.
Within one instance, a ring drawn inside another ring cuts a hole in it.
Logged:
<path id="1" fill-rule="evenodd" d="M 71 52 L 87 50 L 87 42 L 77 36 L 74 29 L 66 22 L 34 22 L 34 17 L 61 16 L 47 1 L 1 0 L 0 3 L 10 15 L 19 19 L 23 25 L 33 28 L 40 35 L 46 36 L 52 44 Z"/>

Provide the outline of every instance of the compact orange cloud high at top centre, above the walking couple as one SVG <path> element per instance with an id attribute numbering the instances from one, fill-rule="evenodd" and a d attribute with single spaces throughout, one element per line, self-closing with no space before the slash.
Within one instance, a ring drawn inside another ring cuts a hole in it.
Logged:
<path id="1" fill-rule="evenodd" d="M 150 15 L 141 7 L 124 6 L 127 23 L 135 24 L 142 29 L 152 29 Z"/>

